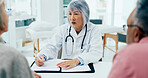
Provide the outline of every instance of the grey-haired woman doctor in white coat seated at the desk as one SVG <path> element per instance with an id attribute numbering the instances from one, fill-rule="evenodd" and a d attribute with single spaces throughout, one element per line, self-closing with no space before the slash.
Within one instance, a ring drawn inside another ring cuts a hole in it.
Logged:
<path id="1" fill-rule="evenodd" d="M 98 62 L 102 57 L 102 39 L 98 28 L 89 22 L 89 7 L 85 0 L 72 0 L 68 5 L 68 24 L 60 26 L 35 63 L 42 66 L 47 59 L 57 58 L 62 48 L 61 59 L 71 59 L 57 64 L 73 68 Z M 39 58 L 41 60 L 39 60 Z"/>

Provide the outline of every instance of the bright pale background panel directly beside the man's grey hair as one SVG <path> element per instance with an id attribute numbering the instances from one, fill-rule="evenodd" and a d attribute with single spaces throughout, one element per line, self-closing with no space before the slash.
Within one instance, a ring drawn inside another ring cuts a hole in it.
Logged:
<path id="1" fill-rule="evenodd" d="M 136 7 L 137 0 L 115 0 L 114 25 L 122 26 L 127 23 L 128 16 Z"/>

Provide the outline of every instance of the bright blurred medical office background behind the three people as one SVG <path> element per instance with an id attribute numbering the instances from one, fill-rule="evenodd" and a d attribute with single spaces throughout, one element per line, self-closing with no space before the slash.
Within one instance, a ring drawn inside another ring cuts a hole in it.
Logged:
<path id="1" fill-rule="evenodd" d="M 9 30 L 2 35 L 6 44 L 19 50 L 26 58 L 34 58 L 56 32 L 54 29 L 68 22 L 67 6 L 70 1 L 6 0 Z M 123 25 L 127 23 L 136 1 L 86 0 L 90 8 L 90 22 L 101 30 L 102 63 L 111 64 L 114 54 L 127 45 Z M 31 64 L 32 61 L 28 62 Z M 109 70 L 102 78 L 107 77 Z"/>

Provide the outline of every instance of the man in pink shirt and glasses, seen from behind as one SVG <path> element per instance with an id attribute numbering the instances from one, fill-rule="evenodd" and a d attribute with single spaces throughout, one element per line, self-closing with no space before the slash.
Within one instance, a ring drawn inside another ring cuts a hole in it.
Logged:
<path id="1" fill-rule="evenodd" d="M 127 43 L 116 53 L 108 78 L 148 78 L 148 0 L 138 0 L 127 21 Z"/>

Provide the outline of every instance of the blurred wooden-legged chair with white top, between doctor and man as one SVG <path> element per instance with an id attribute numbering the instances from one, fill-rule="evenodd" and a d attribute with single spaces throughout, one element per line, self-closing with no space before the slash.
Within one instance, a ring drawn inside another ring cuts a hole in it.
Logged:
<path id="1" fill-rule="evenodd" d="M 112 38 L 115 43 L 116 43 L 116 51 L 118 51 L 118 42 L 122 41 L 122 42 L 126 42 L 125 41 L 125 35 L 124 38 L 122 37 L 125 31 L 123 31 L 122 27 L 117 27 L 117 26 L 110 26 L 110 25 L 98 25 L 99 28 L 99 32 L 101 32 L 103 37 L 103 55 L 102 57 L 104 57 L 104 49 L 106 46 L 106 42 L 107 42 L 107 38 Z M 117 34 L 111 34 L 111 33 L 117 33 Z M 108 47 L 107 47 L 108 48 Z M 109 48 L 110 49 L 110 48 Z M 113 52 L 116 52 L 112 49 L 110 49 Z"/>

